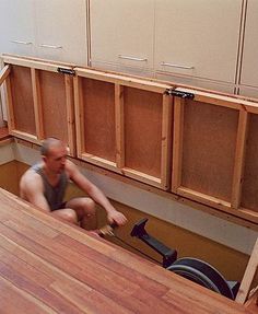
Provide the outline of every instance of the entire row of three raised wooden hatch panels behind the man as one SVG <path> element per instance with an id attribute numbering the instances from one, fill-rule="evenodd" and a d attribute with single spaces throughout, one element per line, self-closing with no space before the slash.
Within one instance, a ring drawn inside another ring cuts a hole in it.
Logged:
<path id="1" fill-rule="evenodd" d="M 74 158 L 258 223 L 258 101 L 17 56 L 3 61 L 11 135 L 36 144 L 58 137 Z"/>

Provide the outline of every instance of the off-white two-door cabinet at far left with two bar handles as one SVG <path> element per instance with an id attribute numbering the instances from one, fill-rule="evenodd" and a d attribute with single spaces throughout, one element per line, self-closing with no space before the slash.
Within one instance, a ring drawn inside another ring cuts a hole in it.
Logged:
<path id="1" fill-rule="evenodd" d="M 87 66 L 86 0 L 0 0 L 0 53 Z"/>

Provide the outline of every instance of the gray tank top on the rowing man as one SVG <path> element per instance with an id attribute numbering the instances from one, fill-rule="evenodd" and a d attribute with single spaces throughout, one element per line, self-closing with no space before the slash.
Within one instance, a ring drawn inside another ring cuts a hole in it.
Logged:
<path id="1" fill-rule="evenodd" d="M 68 177 L 66 172 L 61 172 L 60 179 L 58 184 L 54 187 L 49 184 L 46 175 L 43 172 L 40 164 L 35 164 L 32 166 L 32 170 L 40 175 L 44 185 L 44 196 L 47 199 L 47 202 L 51 210 L 56 210 L 62 207 L 63 197 L 68 184 Z"/>

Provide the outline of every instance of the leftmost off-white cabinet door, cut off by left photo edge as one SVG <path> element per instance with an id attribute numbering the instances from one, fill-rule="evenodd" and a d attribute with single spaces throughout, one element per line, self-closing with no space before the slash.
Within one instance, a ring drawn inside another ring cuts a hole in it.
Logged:
<path id="1" fill-rule="evenodd" d="M 0 53 L 34 55 L 34 1 L 0 1 Z"/>

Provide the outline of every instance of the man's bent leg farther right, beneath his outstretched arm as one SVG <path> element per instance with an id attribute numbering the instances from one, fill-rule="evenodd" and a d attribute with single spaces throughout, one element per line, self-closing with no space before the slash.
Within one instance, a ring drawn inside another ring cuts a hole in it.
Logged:
<path id="1" fill-rule="evenodd" d="M 72 208 L 77 212 L 83 229 L 95 230 L 97 228 L 95 202 L 91 198 L 73 198 L 67 201 L 66 207 Z"/>

